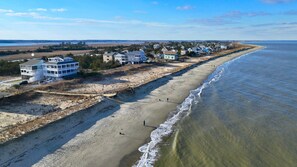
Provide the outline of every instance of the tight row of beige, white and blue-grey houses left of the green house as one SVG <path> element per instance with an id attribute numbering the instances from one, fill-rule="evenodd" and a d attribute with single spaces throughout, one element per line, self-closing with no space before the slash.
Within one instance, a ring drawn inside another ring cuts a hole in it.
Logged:
<path id="1" fill-rule="evenodd" d="M 103 54 L 103 61 L 105 63 L 111 61 L 118 61 L 120 64 L 138 64 L 143 63 L 147 60 L 144 51 L 132 51 L 132 52 L 124 52 L 124 53 L 117 53 L 117 52 L 105 52 Z"/>

